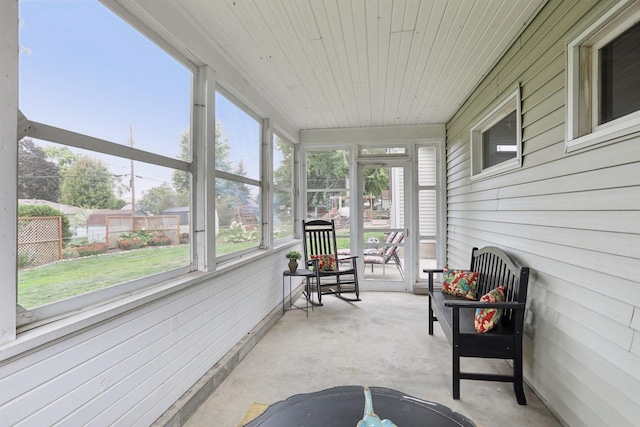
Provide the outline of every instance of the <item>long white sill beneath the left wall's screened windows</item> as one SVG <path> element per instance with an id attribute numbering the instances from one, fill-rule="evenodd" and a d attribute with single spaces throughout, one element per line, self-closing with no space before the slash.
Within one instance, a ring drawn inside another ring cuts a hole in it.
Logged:
<path id="1" fill-rule="evenodd" d="M 222 274 L 240 271 L 245 268 L 248 259 L 255 260 L 262 257 L 274 256 L 289 247 L 299 245 L 299 240 L 291 240 L 269 251 L 259 251 L 236 260 L 229 261 L 212 272 L 191 272 L 176 279 L 159 282 L 153 286 L 132 292 L 129 296 L 117 300 L 102 303 L 93 307 L 87 307 L 80 312 L 67 315 L 58 320 L 49 321 L 46 324 L 18 333 L 15 340 L 0 345 L 0 363 L 25 352 L 48 345 L 52 341 L 61 339 L 67 335 L 76 333 L 86 328 L 93 327 L 101 322 L 116 318 L 128 311 L 143 305 L 157 301 L 175 292 L 210 281 Z"/>

